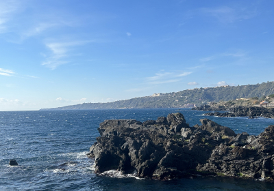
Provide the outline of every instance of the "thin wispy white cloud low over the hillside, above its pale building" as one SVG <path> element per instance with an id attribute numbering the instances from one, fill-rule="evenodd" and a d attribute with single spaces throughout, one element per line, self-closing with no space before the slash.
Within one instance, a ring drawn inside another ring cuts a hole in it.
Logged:
<path id="1" fill-rule="evenodd" d="M 156 73 L 155 76 L 147 77 L 147 83 L 157 85 L 163 83 L 175 83 L 182 80 L 182 77 L 188 76 L 192 72 L 164 72 Z"/>

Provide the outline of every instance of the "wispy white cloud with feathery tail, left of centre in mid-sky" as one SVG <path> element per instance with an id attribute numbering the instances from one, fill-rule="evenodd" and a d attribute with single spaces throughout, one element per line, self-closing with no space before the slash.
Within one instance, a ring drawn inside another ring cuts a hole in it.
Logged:
<path id="1" fill-rule="evenodd" d="M 49 42 L 45 45 L 49 50 L 51 50 L 51 55 L 47 57 L 46 61 L 42 62 L 42 65 L 47 66 L 54 70 L 59 65 L 69 63 L 67 61 L 67 57 L 71 57 L 68 53 L 75 48 L 75 46 L 82 46 L 92 41 L 84 40 L 84 41 L 72 41 L 72 42 Z"/>

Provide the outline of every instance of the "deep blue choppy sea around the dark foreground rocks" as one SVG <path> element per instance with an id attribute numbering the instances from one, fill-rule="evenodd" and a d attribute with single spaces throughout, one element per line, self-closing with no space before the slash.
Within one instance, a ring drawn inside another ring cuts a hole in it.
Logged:
<path id="1" fill-rule="evenodd" d="M 86 158 L 105 119 L 146 121 L 177 113 L 177 109 L 0 112 L 0 190 L 274 190 L 264 181 L 193 177 L 155 181 L 96 175 Z M 258 135 L 274 119 L 203 116 L 182 109 L 190 126 L 208 118 L 236 133 Z M 16 159 L 18 166 L 9 166 Z"/>

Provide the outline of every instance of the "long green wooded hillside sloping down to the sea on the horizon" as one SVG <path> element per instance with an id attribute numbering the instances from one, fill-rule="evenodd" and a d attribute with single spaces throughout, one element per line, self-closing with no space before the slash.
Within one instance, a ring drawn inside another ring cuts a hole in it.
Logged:
<path id="1" fill-rule="evenodd" d="M 205 104 L 235 100 L 236 98 L 262 98 L 274 93 L 274 82 L 256 85 L 206 87 L 187 89 L 173 93 L 155 93 L 151 96 L 132 98 L 108 103 L 84 103 L 59 108 L 41 110 L 74 110 L 74 109 L 103 109 L 103 108 L 182 108 L 184 104 Z"/>

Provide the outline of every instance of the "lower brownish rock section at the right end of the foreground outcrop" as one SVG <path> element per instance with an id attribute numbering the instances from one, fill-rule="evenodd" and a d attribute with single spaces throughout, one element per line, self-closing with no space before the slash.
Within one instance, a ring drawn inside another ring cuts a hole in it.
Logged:
<path id="1" fill-rule="evenodd" d="M 273 179 L 273 131 L 274 126 L 269 126 L 257 138 L 247 133 L 238 134 L 231 141 L 232 145 L 216 146 L 208 162 L 199 164 L 197 170 L 227 176 Z"/>

